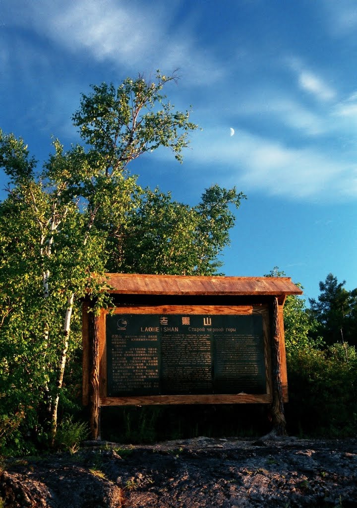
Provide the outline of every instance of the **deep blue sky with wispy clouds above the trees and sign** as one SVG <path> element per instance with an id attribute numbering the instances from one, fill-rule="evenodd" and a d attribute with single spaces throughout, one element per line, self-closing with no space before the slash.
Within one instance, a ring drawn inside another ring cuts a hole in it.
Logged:
<path id="1" fill-rule="evenodd" d="M 179 69 L 166 93 L 203 130 L 133 172 L 190 204 L 236 185 L 225 274 L 278 266 L 317 297 L 329 272 L 357 287 L 356 56 L 355 0 L 0 0 L 0 127 L 42 161 L 90 84 Z"/>

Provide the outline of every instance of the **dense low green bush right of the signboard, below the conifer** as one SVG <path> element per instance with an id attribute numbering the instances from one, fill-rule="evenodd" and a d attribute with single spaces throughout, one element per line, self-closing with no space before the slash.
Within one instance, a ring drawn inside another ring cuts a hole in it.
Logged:
<path id="1" fill-rule="evenodd" d="M 287 355 L 289 433 L 346 437 L 357 430 L 357 359 L 353 346 L 308 346 Z"/>

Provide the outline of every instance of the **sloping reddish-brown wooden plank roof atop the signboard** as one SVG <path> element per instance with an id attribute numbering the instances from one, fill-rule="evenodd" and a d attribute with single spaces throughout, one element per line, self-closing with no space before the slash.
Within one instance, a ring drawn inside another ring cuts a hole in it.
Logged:
<path id="1" fill-rule="evenodd" d="M 107 273 L 109 293 L 118 295 L 302 295 L 290 277 L 223 277 Z"/>

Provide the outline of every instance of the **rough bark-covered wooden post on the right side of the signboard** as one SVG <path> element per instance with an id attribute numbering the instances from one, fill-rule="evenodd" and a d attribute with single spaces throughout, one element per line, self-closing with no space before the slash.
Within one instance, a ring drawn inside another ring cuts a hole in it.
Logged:
<path id="1" fill-rule="evenodd" d="M 278 436 L 286 436 L 286 422 L 284 416 L 283 390 L 281 383 L 281 354 L 280 354 L 280 326 L 279 304 L 274 297 L 272 304 L 272 376 L 273 376 L 273 401 L 272 418 L 273 432 Z"/>

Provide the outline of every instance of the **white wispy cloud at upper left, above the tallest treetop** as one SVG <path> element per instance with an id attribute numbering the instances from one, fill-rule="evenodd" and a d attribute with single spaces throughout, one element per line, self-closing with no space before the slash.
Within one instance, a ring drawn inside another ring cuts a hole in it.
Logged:
<path id="1" fill-rule="evenodd" d="M 215 81 L 225 72 L 198 48 L 181 24 L 173 30 L 174 6 L 132 0 L 19 0 L 7 13 L 8 22 L 30 26 L 42 37 L 87 58 L 110 61 L 121 73 L 170 73 L 184 69 L 185 82 Z M 18 16 L 21 10 L 23 15 Z"/>

